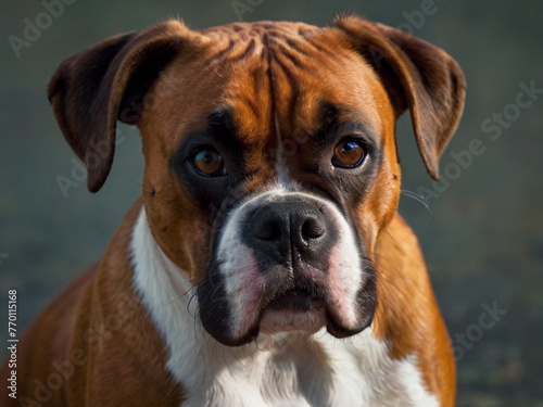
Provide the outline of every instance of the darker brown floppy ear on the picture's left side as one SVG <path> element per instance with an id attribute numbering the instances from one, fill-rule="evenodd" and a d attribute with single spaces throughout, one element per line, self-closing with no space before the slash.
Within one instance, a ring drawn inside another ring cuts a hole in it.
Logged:
<path id="1" fill-rule="evenodd" d="M 117 118 L 138 124 L 143 97 L 197 34 L 169 21 L 104 40 L 65 60 L 48 87 L 64 137 L 87 166 L 89 191 L 100 190 L 115 151 Z"/>

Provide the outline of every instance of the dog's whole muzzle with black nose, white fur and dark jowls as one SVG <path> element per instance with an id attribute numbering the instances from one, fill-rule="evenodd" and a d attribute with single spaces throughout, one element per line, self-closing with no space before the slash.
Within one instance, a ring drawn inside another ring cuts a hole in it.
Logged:
<path id="1" fill-rule="evenodd" d="M 348 219 L 321 198 L 267 192 L 231 211 L 217 234 L 200 318 L 223 344 L 260 332 L 361 332 L 375 310 L 375 270 Z"/>

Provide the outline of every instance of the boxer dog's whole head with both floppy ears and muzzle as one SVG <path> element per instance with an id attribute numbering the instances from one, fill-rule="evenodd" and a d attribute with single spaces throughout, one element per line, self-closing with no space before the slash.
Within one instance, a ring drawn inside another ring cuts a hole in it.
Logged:
<path id="1" fill-rule="evenodd" d="M 437 178 L 464 78 L 437 47 L 354 16 L 200 33 L 172 21 L 70 58 L 49 97 L 93 192 L 116 120 L 138 125 L 154 239 L 198 284 L 209 333 L 241 345 L 371 322 L 375 245 L 400 195 L 395 120 L 411 111 Z"/>

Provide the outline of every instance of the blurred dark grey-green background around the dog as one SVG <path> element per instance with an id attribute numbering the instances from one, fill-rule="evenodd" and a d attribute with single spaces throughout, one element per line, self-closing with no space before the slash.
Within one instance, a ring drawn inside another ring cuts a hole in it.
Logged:
<path id="1" fill-rule="evenodd" d="M 21 330 L 100 256 L 140 193 L 143 160 L 129 127 L 98 194 L 85 182 L 61 191 L 59 177 L 74 179 L 77 165 L 46 85 L 63 59 L 168 17 L 199 29 L 240 18 L 326 25 L 357 12 L 444 48 L 467 77 L 444 181 L 426 175 L 408 115 L 399 127 L 403 189 L 425 192 L 433 216 L 406 194 L 400 211 L 420 238 L 456 346 L 458 406 L 543 406 L 542 1 L 65 0 L 56 15 L 45 2 L 0 5 L 0 298 L 18 290 Z M 25 31 L 28 23 L 42 29 Z M 28 41 L 14 50 L 13 36 Z M 481 154 L 469 153 L 471 140 Z M 488 307 L 507 313 L 482 328 Z M 7 305 L 0 309 L 7 327 Z"/>

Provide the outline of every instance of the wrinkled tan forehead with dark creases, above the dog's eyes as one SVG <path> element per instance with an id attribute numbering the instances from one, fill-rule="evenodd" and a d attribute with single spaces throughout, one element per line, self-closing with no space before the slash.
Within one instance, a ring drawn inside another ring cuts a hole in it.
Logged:
<path id="1" fill-rule="evenodd" d="M 384 132 L 381 116 L 391 110 L 386 91 L 340 33 L 302 23 L 240 23 L 202 35 L 205 48 L 197 58 L 181 56 L 171 68 L 174 82 L 180 71 L 184 78 L 181 89 L 171 84 L 176 92 L 166 97 L 180 99 L 175 104 L 188 111 L 184 123 L 191 127 L 228 112 L 236 132 L 262 143 L 315 133 L 333 111 L 333 119 Z"/>

